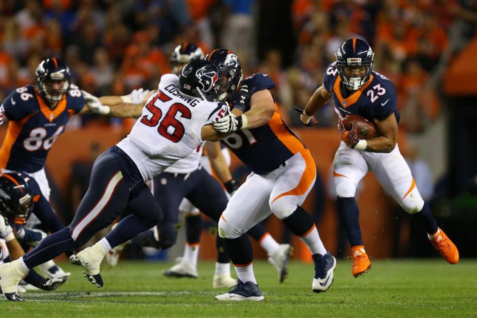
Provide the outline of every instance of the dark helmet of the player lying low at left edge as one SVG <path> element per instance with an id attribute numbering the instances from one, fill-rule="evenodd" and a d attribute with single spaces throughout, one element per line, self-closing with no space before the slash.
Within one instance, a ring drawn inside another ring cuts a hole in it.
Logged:
<path id="1" fill-rule="evenodd" d="M 0 174 L 0 214 L 17 224 L 25 224 L 33 210 L 31 188 L 15 172 Z"/>

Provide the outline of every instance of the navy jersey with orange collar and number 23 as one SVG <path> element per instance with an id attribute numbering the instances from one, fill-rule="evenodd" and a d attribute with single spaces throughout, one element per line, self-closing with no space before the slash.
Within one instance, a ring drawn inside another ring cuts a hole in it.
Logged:
<path id="1" fill-rule="evenodd" d="M 360 89 L 350 91 L 341 84 L 334 62 L 326 68 L 323 85 L 332 93 L 334 107 L 340 118 L 360 115 L 374 121 L 374 119 L 383 120 L 394 113 L 399 123 L 396 88 L 389 79 L 378 72 L 373 72 L 370 80 Z"/>

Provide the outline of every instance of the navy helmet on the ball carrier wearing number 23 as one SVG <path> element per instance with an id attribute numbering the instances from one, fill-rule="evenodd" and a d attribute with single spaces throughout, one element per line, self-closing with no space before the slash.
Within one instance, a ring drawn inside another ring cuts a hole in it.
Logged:
<path id="1" fill-rule="evenodd" d="M 335 55 L 336 68 L 341 81 L 346 86 L 357 90 L 371 78 L 374 52 L 365 41 L 357 38 L 346 40 L 340 45 Z M 344 68 L 352 66 L 366 66 L 366 74 L 361 77 L 346 76 Z"/>

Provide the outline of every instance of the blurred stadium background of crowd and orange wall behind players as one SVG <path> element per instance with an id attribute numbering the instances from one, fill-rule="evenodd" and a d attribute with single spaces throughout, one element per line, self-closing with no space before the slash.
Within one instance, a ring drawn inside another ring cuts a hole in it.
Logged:
<path id="1" fill-rule="evenodd" d="M 154 89 L 160 76 L 170 72 L 170 53 L 181 42 L 198 43 L 204 52 L 227 47 L 239 56 L 245 76 L 271 76 L 282 117 L 318 166 L 317 184 L 305 207 L 325 245 L 337 255 L 349 253 L 330 184 L 339 142 L 336 117 L 328 105 L 317 115 L 318 127 L 303 128 L 293 106 L 305 106 L 343 40 L 365 39 L 376 53 L 375 70 L 397 87 L 399 146 L 423 197 L 461 255 L 477 255 L 471 236 L 477 221 L 475 1 L 3 0 L 0 14 L 1 99 L 34 83 L 35 68 L 47 56 L 63 58 L 73 82 L 97 96 Z M 58 138 L 46 166 L 52 202 L 66 223 L 87 188 L 92 161 L 133 124 L 74 117 Z M 0 127 L 0 136 L 5 131 L 6 125 Z M 238 178 L 247 174 L 237 159 L 232 170 Z M 372 174 L 362 182 L 358 204 L 373 257 L 437 255 Z M 291 240 L 294 257 L 310 259 L 274 216 L 266 227 L 277 240 Z M 210 235 L 202 237 L 202 246 L 201 257 L 214 257 Z"/>

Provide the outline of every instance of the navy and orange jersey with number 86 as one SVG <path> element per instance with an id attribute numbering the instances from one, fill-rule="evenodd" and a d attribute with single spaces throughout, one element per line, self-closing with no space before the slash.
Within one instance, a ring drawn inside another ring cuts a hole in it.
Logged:
<path id="1" fill-rule="evenodd" d="M 71 84 L 66 98 L 50 110 L 36 87 L 26 85 L 10 93 L 1 106 L 9 123 L 0 149 L 0 168 L 33 173 L 43 168 L 56 138 L 70 117 L 83 108 L 84 97 Z"/>

